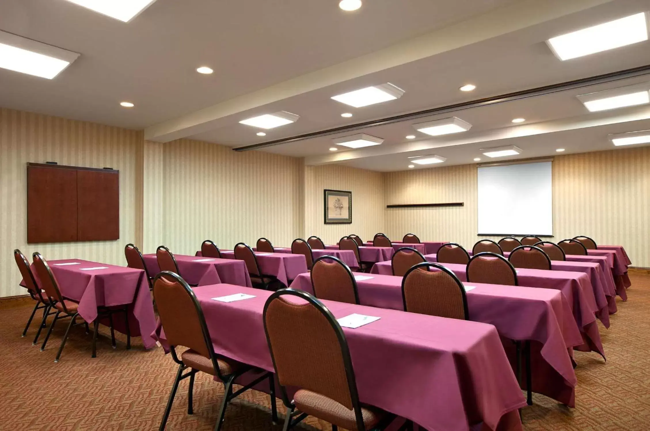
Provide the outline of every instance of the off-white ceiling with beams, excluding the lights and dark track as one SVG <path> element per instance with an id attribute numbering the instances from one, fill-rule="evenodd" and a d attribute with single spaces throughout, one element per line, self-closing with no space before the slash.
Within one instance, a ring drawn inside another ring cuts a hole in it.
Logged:
<path id="1" fill-rule="evenodd" d="M 81 53 L 53 80 L 0 69 L 0 106 L 146 129 L 160 142 L 241 147 L 650 64 L 650 42 L 565 62 L 544 43 L 650 10 L 650 0 L 364 0 L 351 14 L 338 0 L 157 0 L 129 23 L 64 0 L 0 1 L 0 30 Z M 200 75 L 198 66 L 214 74 Z M 331 139 L 345 135 L 335 134 L 262 151 L 395 171 L 408 169 L 408 156 L 438 154 L 448 160 L 437 166 L 449 166 L 500 145 L 521 147 L 518 158 L 554 155 L 556 147 L 611 149 L 607 134 L 650 129 L 650 108 L 589 113 L 575 96 L 646 81 L 650 75 L 360 130 L 384 138 L 378 147 L 333 153 Z M 365 108 L 330 99 L 384 82 L 406 93 Z M 478 88 L 460 92 L 467 82 Z M 135 108 L 120 107 L 123 100 Z M 262 138 L 238 123 L 279 110 L 300 119 Z M 411 127 L 448 116 L 473 127 L 447 138 Z M 514 117 L 526 122 L 515 126 Z"/>

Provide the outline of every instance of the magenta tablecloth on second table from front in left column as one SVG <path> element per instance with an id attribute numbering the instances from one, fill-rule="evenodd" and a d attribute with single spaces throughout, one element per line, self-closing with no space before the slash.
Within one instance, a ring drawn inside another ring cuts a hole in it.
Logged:
<path id="1" fill-rule="evenodd" d="M 160 272 L 155 254 L 144 254 L 142 257 L 151 277 Z M 181 271 L 179 275 L 188 284 L 205 286 L 207 284 L 227 283 L 248 286 L 249 288 L 253 286 L 250 282 L 246 264 L 242 260 L 209 258 L 211 260 L 207 262 L 198 262 L 204 258 L 184 254 L 174 254 L 174 258 L 178 270 Z"/>

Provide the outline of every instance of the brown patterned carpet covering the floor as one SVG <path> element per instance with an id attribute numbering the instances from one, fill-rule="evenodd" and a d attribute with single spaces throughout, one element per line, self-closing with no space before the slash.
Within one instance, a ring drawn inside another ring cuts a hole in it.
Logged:
<path id="1" fill-rule="evenodd" d="M 609 330 L 601 326 L 607 362 L 593 353 L 575 354 L 576 408 L 535 395 L 535 405 L 523 410 L 526 431 L 650 428 L 650 272 L 630 272 L 630 278 L 629 301 L 619 302 Z M 0 430 L 158 428 L 176 371 L 169 356 L 161 349 L 144 351 L 137 338 L 131 351 L 125 351 L 123 338 L 114 350 L 103 332 L 98 358 L 92 359 L 90 336 L 77 326 L 61 361 L 54 363 L 65 327 L 55 328 L 47 349 L 40 352 L 31 345 L 37 323 L 27 337 L 20 337 L 30 312 L 29 306 L 16 306 L 16 301 L 0 305 Z M 194 415 L 187 415 L 185 380 L 168 430 L 213 429 L 222 386 L 203 373 L 194 386 Z M 244 393 L 228 407 L 224 431 L 280 430 L 270 423 L 268 402 L 263 393 Z M 330 426 L 310 417 L 302 429 L 330 430 Z"/>

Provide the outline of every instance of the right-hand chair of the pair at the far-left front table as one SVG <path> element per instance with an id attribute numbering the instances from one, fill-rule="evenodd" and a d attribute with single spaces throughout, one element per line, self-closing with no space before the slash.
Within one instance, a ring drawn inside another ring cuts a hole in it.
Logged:
<path id="1" fill-rule="evenodd" d="M 66 317 L 70 317 L 70 324 L 68 324 L 68 328 L 66 329 L 66 333 L 64 334 L 63 339 L 61 340 L 59 351 L 57 352 L 57 356 L 54 360 L 54 362 L 59 362 L 59 358 L 61 357 L 61 352 L 63 352 L 63 347 L 66 345 L 66 341 L 68 340 L 68 335 L 70 334 L 70 328 L 72 328 L 72 326 L 77 325 L 75 320 L 79 315 L 79 311 L 78 311 L 79 302 L 72 301 L 72 299 L 66 299 L 63 297 L 63 295 L 61 295 L 57 278 L 54 277 L 54 274 L 52 273 L 52 269 L 49 267 L 47 261 L 43 258 L 43 256 L 41 256 L 39 252 L 35 252 L 32 257 L 34 260 L 34 268 L 36 269 L 36 275 L 38 275 L 38 280 L 40 280 L 40 285 L 45 290 L 45 295 L 47 295 L 47 298 L 52 304 L 52 308 L 57 310 L 57 312 L 54 315 L 54 319 L 52 319 L 52 323 L 50 323 L 49 325 L 47 334 L 45 334 L 45 339 L 43 340 L 43 344 L 40 347 L 40 351 L 45 350 L 45 345 L 47 345 L 47 340 L 49 339 L 49 336 L 52 334 L 52 330 L 54 329 L 54 325 L 57 323 L 57 321 L 59 321 L 60 319 L 65 319 Z M 60 317 L 61 314 L 64 314 L 64 316 Z M 94 320 L 94 333 L 92 336 L 92 357 L 93 358 L 97 357 L 97 334 L 99 332 L 99 319 L 101 319 L 102 317 L 106 317 L 106 315 L 100 313 L 98 310 L 98 315 Z M 112 324 L 110 325 L 110 328 L 112 332 Z M 86 322 L 86 333 L 88 333 L 87 322 Z"/>

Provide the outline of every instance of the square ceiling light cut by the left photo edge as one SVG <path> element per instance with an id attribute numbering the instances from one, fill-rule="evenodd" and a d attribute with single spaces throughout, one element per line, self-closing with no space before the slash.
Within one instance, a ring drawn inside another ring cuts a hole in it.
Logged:
<path id="1" fill-rule="evenodd" d="M 53 79 L 79 54 L 0 31 L 0 68 Z"/>

